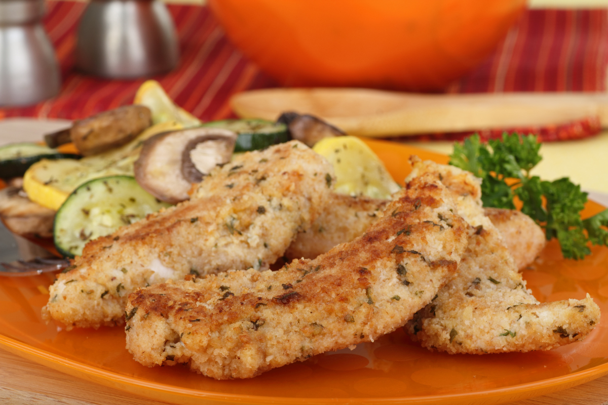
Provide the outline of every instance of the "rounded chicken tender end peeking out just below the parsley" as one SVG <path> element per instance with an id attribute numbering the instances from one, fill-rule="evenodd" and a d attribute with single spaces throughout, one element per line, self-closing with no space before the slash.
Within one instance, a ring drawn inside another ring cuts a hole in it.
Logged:
<path id="1" fill-rule="evenodd" d="M 526 214 L 516 209 L 503 208 L 484 208 L 483 213 L 496 226 L 517 269 L 523 270 L 545 248 L 545 233 Z"/>

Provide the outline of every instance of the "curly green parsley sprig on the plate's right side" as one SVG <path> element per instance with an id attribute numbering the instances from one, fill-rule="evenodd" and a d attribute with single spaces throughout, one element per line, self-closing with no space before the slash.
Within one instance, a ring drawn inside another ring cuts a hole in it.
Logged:
<path id="1" fill-rule="evenodd" d="M 581 219 L 587 193 L 570 179 L 548 182 L 530 171 L 541 162 L 541 143 L 533 135 L 503 134 L 502 139 L 480 141 L 478 135 L 454 144 L 450 164 L 471 171 L 482 182 L 484 206 L 514 209 L 513 198 L 523 203 L 522 212 L 545 230 L 547 240 L 557 238 L 567 259 L 584 259 L 589 243 L 608 246 L 608 209 Z M 514 179 L 508 180 L 506 179 Z"/>

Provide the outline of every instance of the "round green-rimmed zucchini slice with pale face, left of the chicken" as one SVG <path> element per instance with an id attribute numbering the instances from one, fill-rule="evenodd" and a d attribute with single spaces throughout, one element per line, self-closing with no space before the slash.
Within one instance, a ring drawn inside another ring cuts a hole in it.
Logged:
<path id="1" fill-rule="evenodd" d="M 90 180 L 75 189 L 55 215 L 53 238 L 63 256 L 82 254 L 86 243 L 169 206 L 137 184 L 134 177 Z"/>

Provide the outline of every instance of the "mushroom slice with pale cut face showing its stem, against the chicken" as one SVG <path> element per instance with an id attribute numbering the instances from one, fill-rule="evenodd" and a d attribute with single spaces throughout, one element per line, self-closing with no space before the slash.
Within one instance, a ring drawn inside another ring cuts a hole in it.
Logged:
<path id="1" fill-rule="evenodd" d="M 164 132 L 146 140 L 135 162 L 135 179 L 159 200 L 178 203 L 190 198 L 217 165 L 230 162 L 237 134 L 227 129 L 190 128 Z"/>

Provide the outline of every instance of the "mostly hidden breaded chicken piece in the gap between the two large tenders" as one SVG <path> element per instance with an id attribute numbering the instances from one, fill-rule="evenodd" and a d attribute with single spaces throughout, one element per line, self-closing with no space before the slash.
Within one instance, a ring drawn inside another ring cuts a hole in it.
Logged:
<path id="1" fill-rule="evenodd" d="M 340 243 L 350 242 L 365 233 L 379 218 L 388 200 L 351 197 L 332 193 L 319 217 L 289 245 L 289 259 L 314 259 Z"/>

